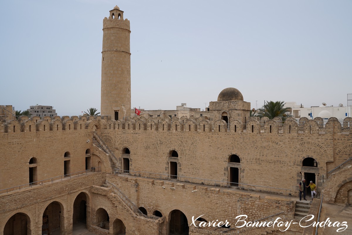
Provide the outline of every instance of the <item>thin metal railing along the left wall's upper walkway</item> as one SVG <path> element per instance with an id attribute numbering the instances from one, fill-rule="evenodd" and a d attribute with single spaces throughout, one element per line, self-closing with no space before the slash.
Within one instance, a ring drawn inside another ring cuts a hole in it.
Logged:
<path id="1" fill-rule="evenodd" d="M 5 188 L 5 189 L 1 189 L 0 190 L 0 194 L 2 193 L 5 193 L 5 192 L 2 192 L 2 191 L 5 191 L 6 190 L 6 193 L 9 193 L 9 192 L 13 192 L 13 191 L 16 191 L 16 190 L 21 190 L 21 189 L 25 189 L 25 188 L 32 188 L 33 185 L 43 185 L 43 184 L 46 184 L 46 183 L 50 183 L 50 184 L 53 184 L 53 183 L 56 183 L 58 181 L 62 181 L 63 179 L 68 179 L 68 178 L 73 178 L 73 177 L 80 177 L 80 173 L 83 172 L 82 174 L 85 173 L 85 175 L 87 175 L 88 172 L 99 172 L 100 167 L 93 167 L 91 169 L 88 169 L 88 170 L 85 170 L 85 171 L 78 171 L 78 172 L 74 172 L 74 173 L 70 173 L 70 174 L 67 174 L 67 175 L 60 175 L 60 176 L 57 176 L 57 177 L 52 177 L 52 178 L 49 178 L 49 179 L 44 179 L 44 180 L 38 180 L 38 181 L 35 181 L 33 183 L 28 183 L 28 184 L 23 184 L 23 185 L 18 185 L 18 186 L 14 186 L 14 187 L 10 187 L 10 188 Z M 95 169 L 97 169 L 97 171 L 95 171 Z M 81 174 L 81 176 L 82 176 Z"/>

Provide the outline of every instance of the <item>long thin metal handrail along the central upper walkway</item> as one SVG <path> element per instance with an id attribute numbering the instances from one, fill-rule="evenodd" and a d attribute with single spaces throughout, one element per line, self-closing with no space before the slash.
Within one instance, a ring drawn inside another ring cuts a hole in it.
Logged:
<path id="1" fill-rule="evenodd" d="M 124 172 L 124 173 L 119 173 L 119 171 Z M 177 177 L 177 178 L 179 178 L 178 181 L 181 181 L 182 178 L 186 178 L 186 179 L 191 179 L 191 182 L 190 182 L 191 184 L 194 183 L 194 182 L 193 182 L 193 179 L 204 181 L 204 183 L 202 182 L 204 185 L 205 185 L 205 182 L 206 182 L 206 181 L 214 181 L 214 182 L 215 182 L 215 184 L 214 184 L 215 187 L 216 187 L 216 183 L 227 183 L 227 184 L 238 184 L 239 187 L 240 187 L 240 185 L 241 185 L 241 186 L 254 186 L 254 187 L 263 187 L 263 188 L 271 188 L 271 189 L 285 190 L 285 194 L 286 194 L 287 191 L 289 191 L 289 192 L 291 191 L 290 189 L 287 189 L 287 188 L 276 188 L 276 187 L 261 186 L 261 185 L 253 185 L 253 184 L 242 184 L 242 183 L 234 183 L 234 182 L 222 181 L 222 180 L 210 180 L 210 179 L 202 179 L 202 178 L 195 178 L 195 177 L 186 177 L 186 176 L 180 176 L 180 175 L 169 175 L 169 174 L 162 174 L 162 173 L 155 173 L 155 172 L 146 172 L 146 171 L 125 171 L 125 170 L 121 170 L 121 169 L 117 169 L 117 168 L 115 169 L 115 174 L 117 173 L 117 174 L 125 174 L 125 175 L 126 175 L 126 173 L 130 173 L 130 172 L 138 173 L 138 175 L 139 175 L 139 173 L 148 173 L 148 174 L 149 174 L 149 178 L 152 178 L 152 179 L 161 179 L 161 176 L 162 176 L 162 175 L 167 176 L 168 178 L 169 178 L 169 176 L 171 176 L 171 177 Z M 159 175 L 159 178 L 153 178 L 153 177 L 151 177 L 150 174 Z M 137 174 L 134 174 L 134 176 L 137 176 Z M 174 178 L 174 179 L 176 179 L 176 178 Z M 171 178 L 171 180 L 172 180 L 172 178 Z M 185 182 L 185 181 L 181 181 L 181 182 Z M 196 184 L 196 183 L 195 183 L 195 184 Z"/>

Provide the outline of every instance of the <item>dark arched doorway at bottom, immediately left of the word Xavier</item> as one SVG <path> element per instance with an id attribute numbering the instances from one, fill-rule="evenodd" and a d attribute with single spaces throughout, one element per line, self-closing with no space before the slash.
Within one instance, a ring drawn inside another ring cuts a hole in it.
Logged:
<path id="1" fill-rule="evenodd" d="M 187 217 L 180 210 L 173 210 L 169 214 L 170 235 L 188 235 Z"/>

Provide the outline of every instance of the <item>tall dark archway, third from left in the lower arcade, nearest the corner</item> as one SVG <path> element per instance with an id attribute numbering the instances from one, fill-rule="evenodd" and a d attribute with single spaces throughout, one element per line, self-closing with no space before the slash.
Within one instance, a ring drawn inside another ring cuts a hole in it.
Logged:
<path id="1" fill-rule="evenodd" d="M 86 193 L 81 192 L 77 195 L 73 203 L 73 229 L 75 229 L 75 227 L 82 227 L 80 225 L 83 224 L 87 227 L 87 211 L 87 195 Z"/>

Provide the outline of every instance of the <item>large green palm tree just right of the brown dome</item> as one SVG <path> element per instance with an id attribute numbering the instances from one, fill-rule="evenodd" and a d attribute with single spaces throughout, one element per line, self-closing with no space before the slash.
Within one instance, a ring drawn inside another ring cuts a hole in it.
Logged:
<path id="1" fill-rule="evenodd" d="M 281 117 L 283 121 L 286 120 L 288 115 L 286 112 L 290 108 L 286 107 L 284 108 L 285 103 L 284 101 L 269 101 L 265 102 L 262 108 L 259 109 L 258 116 L 260 118 L 262 117 L 268 117 L 269 119 L 273 119 L 274 117 Z"/>

